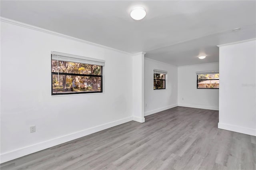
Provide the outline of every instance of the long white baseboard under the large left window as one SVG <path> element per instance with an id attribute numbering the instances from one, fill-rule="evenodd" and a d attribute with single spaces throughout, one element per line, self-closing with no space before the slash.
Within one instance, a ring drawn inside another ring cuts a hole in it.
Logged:
<path id="1" fill-rule="evenodd" d="M 78 131 L 78 132 L 74 132 L 72 134 L 67 134 L 65 136 L 61 136 L 61 137 L 58 137 L 58 138 L 54 138 L 54 139 L 50 139 L 50 140 L 47 140 L 47 141 L 44 141 L 44 142 L 40 142 L 40 143 L 37 143 L 37 144 L 26 146 L 24 148 L 19 148 L 17 150 L 12 150 L 10 152 L 2 153 L 0 155 L 0 157 L 1 157 L 0 162 L 1 163 L 7 162 L 9 160 L 13 160 L 13 159 L 16 159 L 16 158 L 19 158 L 19 157 L 22 157 L 22 156 L 25 156 L 25 155 L 28 155 L 28 154 L 32 154 L 34 152 L 38 152 L 40 150 L 50 148 L 52 146 L 56 146 L 58 144 L 65 143 L 65 142 L 68 142 L 70 140 L 74 140 L 74 139 L 86 136 L 88 134 L 99 132 L 99 131 L 107 129 L 107 128 L 111 128 L 111 127 L 114 127 L 114 126 L 117 126 L 117 125 L 121 125 L 123 123 L 129 122 L 129 121 L 132 121 L 132 120 L 134 120 L 134 117 L 127 117 L 127 118 L 124 118 L 124 119 L 120 119 L 120 120 L 117 120 L 117 121 L 113 121 L 113 122 L 110 122 L 110 123 L 99 125 L 99 126 L 96 126 L 96 127 L 87 128 L 87 129 L 84 129 L 84 130 L 81 130 L 81 131 Z M 145 121 L 145 119 L 144 119 L 144 121 Z"/>

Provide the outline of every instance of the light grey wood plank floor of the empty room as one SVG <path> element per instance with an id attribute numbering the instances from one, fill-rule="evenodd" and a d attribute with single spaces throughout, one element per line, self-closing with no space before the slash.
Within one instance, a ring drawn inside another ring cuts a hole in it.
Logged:
<path id="1" fill-rule="evenodd" d="M 218 111 L 175 107 L 1 164 L 1 170 L 256 169 L 256 137 L 218 129 Z"/>

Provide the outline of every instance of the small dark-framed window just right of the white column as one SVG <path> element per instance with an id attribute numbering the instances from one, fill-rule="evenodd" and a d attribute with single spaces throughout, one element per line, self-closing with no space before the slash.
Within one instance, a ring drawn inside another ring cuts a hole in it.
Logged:
<path id="1" fill-rule="evenodd" d="M 166 89 L 167 71 L 154 69 L 154 90 Z"/>

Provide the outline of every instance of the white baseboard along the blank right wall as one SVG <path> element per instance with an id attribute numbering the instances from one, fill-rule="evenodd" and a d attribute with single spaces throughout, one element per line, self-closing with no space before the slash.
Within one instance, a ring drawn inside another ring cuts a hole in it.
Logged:
<path id="1" fill-rule="evenodd" d="M 256 136 L 256 129 L 218 123 L 218 128 Z"/>

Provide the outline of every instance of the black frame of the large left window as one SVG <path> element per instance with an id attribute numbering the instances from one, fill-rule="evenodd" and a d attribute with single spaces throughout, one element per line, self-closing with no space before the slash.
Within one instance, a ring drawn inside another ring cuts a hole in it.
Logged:
<path id="1" fill-rule="evenodd" d="M 60 60 L 61 61 L 61 60 Z M 71 62 L 71 61 L 70 61 Z M 56 72 L 52 72 L 51 73 L 51 83 L 53 81 L 53 75 L 74 75 L 74 76 L 88 76 L 88 77 L 100 77 L 100 91 L 81 91 L 81 92 L 65 92 L 65 93 L 53 93 L 53 83 L 51 84 L 52 87 L 52 95 L 71 95 L 71 94 L 84 94 L 84 93 L 103 93 L 103 76 L 102 76 L 102 69 L 103 66 L 102 65 L 98 65 L 101 67 L 100 69 L 100 75 L 91 75 L 91 74 L 75 74 L 75 73 L 56 73 Z M 52 70 L 52 55 L 51 55 L 51 70 Z"/>

